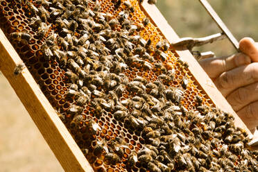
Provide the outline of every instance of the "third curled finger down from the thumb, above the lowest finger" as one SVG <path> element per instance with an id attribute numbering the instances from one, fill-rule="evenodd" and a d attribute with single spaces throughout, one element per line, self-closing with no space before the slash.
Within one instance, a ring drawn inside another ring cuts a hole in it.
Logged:
<path id="1" fill-rule="evenodd" d="M 227 96 L 227 101 L 236 112 L 246 105 L 258 101 L 258 83 L 236 89 Z"/>

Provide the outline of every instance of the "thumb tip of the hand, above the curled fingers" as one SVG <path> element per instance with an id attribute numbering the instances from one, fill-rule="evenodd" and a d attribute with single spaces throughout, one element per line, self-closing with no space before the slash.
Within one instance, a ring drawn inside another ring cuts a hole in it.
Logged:
<path id="1" fill-rule="evenodd" d="M 258 62 L 258 43 L 250 37 L 244 37 L 239 42 L 239 50 L 250 56 L 252 62 Z"/>

